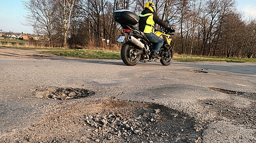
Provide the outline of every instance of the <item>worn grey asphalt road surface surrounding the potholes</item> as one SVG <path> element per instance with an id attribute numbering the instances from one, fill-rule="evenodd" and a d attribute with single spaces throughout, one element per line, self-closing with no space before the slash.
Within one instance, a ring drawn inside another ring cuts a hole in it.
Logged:
<path id="1" fill-rule="evenodd" d="M 218 116 L 215 108 L 205 104 L 223 101 L 231 110 L 254 107 L 256 63 L 173 62 L 163 66 L 150 62 L 131 67 L 119 60 L 0 59 L 0 137 L 54 111 L 57 105 L 52 100 L 34 97 L 38 87 L 87 88 L 95 91 L 91 99 L 115 97 L 165 105 L 193 116 L 198 130 L 203 132 L 203 142 L 256 142 L 255 120 L 235 124 L 233 119 Z M 229 95 L 209 87 L 249 93 L 253 97 Z"/>

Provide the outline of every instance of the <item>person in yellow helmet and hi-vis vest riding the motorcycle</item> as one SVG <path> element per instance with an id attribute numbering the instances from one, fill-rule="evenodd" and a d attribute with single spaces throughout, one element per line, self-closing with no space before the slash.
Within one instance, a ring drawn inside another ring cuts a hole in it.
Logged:
<path id="1" fill-rule="evenodd" d="M 157 53 L 163 45 L 164 40 L 154 34 L 155 23 L 165 28 L 171 28 L 156 15 L 155 4 L 153 2 L 146 2 L 144 11 L 139 15 L 139 31 L 144 32 L 145 36 L 153 44 L 151 57 L 161 59 Z"/>

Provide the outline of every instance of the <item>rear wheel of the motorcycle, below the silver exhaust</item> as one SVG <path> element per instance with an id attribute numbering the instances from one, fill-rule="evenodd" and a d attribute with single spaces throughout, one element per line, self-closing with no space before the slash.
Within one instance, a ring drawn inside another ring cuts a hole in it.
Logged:
<path id="1" fill-rule="evenodd" d="M 141 59 L 141 55 L 134 55 L 137 49 L 131 42 L 125 42 L 121 48 L 121 59 L 126 65 L 137 65 Z"/>

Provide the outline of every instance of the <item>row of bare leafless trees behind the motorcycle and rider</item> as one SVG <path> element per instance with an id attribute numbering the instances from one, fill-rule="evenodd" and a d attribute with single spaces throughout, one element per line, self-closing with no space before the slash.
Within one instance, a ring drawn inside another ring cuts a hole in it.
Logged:
<path id="1" fill-rule="evenodd" d="M 27 0 L 28 25 L 48 46 L 116 46 L 121 27 L 113 12 L 139 15 L 148 0 Z M 174 51 L 180 54 L 256 58 L 256 19 L 244 18 L 235 0 L 153 0 L 163 20 L 172 17 Z"/>

